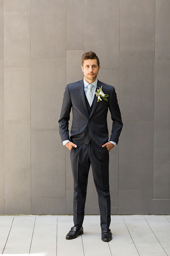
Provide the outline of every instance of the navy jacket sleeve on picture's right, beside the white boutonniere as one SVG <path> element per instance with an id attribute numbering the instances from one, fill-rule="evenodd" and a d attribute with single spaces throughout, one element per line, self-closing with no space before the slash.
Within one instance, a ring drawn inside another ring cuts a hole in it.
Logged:
<path id="1" fill-rule="evenodd" d="M 115 89 L 113 87 L 111 97 L 109 99 L 109 110 L 111 112 L 112 118 L 112 133 L 110 140 L 116 142 L 118 144 L 119 136 L 123 127 L 123 123 L 121 121 L 121 113 L 118 105 L 118 100 L 116 96 Z"/>

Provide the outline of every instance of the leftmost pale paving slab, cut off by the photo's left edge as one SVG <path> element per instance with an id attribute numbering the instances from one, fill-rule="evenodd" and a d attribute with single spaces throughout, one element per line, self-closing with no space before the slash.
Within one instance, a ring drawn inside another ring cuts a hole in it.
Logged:
<path id="1" fill-rule="evenodd" d="M 4 250 L 14 216 L 0 216 L 0 254 Z"/>

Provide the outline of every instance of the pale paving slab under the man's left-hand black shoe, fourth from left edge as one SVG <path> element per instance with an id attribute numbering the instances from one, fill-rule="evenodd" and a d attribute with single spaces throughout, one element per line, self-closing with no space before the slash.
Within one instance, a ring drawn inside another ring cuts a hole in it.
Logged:
<path id="1" fill-rule="evenodd" d="M 76 239 L 66 239 L 72 226 L 74 226 L 73 216 L 58 216 L 57 256 L 84 256 L 81 235 Z"/>

